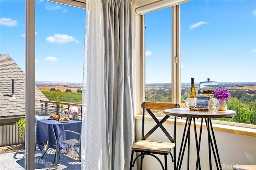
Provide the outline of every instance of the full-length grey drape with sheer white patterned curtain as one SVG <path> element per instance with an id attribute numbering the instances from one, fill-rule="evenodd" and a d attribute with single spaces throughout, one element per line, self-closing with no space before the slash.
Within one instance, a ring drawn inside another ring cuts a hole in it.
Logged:
<path id="1" fill-rule="evenodd" d="M 129 169 L 134 142 L 131 1 L 87 0 L 82 169 Z"/>

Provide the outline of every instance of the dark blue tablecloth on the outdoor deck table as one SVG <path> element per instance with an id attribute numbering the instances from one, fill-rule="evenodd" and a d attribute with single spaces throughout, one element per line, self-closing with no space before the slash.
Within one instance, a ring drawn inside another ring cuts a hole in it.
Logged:
<path id="1" fill-rule="evenodd" d="M 61 123 L 56 120 L 42 119 L 37 121 L 36 125 L 36 144 L 40 150 L 44 149 L 44 141 L 48 141 L 49 148 L 56 148 L 58 135 L 64 130 L 81 133 L 82 122 L 71 120 L 68 123 Z M 78 139 L 79 135 L 65 132 L 61 135 L 59 141 L 68 139 Z M 65 148 L 65 144 L 60 144 L 59 149 Z"/>

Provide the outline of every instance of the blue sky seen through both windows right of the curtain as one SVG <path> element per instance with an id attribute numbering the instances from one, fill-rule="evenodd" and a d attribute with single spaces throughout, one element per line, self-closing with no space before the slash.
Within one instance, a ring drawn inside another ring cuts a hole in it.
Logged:
<path id="1" fill-rule="evenodd" d="M 256 82 L 256 1 L 180 7 L 181 82 Z M 146 14 L 146 83 L 171 82 L 171 8 Z"/>

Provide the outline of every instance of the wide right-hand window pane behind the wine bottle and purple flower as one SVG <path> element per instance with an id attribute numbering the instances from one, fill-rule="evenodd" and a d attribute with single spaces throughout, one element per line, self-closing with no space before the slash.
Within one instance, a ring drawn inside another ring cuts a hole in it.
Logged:
<path id="1" fill-rule="evenodd" d="M 216 81 L 229 90 L 234 117 L 219 119 L 256 124 L 256 2 L 191 1 L 181 4 L 181 95 L 190 78 Z M 183 102 L 183 101 L 181 101 Z"/>

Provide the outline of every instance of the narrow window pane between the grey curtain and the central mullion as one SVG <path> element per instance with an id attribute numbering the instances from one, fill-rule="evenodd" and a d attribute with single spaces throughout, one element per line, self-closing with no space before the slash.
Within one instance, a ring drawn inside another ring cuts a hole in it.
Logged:
<path id="1" fill-rule="evenodd" d="M 172 8 L 145 14 L 145 101 L 172 102 Z"/>

